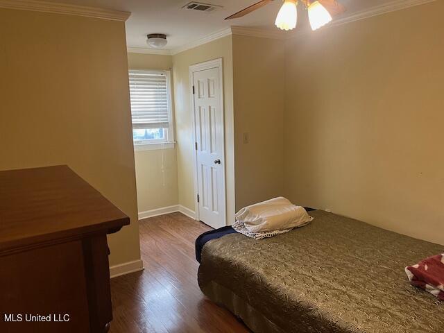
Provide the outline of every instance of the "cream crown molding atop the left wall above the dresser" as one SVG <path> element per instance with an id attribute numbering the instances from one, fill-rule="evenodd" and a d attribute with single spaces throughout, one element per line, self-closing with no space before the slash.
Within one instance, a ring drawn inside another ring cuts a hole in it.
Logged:
<path id="1" fill-rule="evenodd" d="M 95 19 L 110 19 L 125 22 L 130 12 L 94 8 L 87 6 L 70 5 L 67 3 L 54 3 L 37 0 L 0 0 L 0 8 L 16 10 L 32 10 L 34 12 L 51 12 L 54 14 L 76 15 L 94 17 Z"/>

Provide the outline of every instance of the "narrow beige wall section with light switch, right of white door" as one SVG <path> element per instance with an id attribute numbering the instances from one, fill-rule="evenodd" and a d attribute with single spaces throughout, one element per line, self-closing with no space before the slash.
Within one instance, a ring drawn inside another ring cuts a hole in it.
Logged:
<path id="1" fill-rule="evenodd" d="M 233 35 L 236 210 L 282 196 L 284 81 L 283 40 Z"/>

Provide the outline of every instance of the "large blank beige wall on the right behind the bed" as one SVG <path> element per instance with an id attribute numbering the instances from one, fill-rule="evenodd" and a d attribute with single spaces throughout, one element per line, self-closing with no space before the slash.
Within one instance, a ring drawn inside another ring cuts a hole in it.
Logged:
<path id="1" fill-rule="evenodd" d="M 287 45 L 285 193 L 444 244 L 444 1 Z"/>

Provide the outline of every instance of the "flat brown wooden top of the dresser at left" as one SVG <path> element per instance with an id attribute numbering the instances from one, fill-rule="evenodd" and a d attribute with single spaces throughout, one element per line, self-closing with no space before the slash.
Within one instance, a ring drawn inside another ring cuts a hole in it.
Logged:
<path id="1" fill-rule="evenodd" d="M 0 171 L 0 250 L 130 223 L 66 165 Z"/>

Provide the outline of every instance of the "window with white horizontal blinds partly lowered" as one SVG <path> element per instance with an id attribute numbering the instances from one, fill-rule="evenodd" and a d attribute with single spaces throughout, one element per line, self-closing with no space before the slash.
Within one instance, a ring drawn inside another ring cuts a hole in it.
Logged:
<path id="1" fill-rule="evenodd" d="M 130 70 L 129 78 L 135 148 L 172 148 L 169 71 Z"/>

